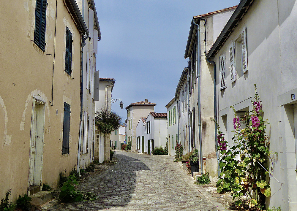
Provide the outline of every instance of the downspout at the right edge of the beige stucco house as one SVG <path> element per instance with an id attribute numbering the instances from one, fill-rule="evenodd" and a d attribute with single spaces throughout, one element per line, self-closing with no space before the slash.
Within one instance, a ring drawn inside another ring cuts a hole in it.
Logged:
<path id="1" fill-rule="evenodd" d="M 81 78 L 80 78 L 80 126 L 79 126 L 79 138 L 78 138 L 78 154 L 77 154 L 77 168 L 76 172 L 79 173 L 79 163 L 80 163 L 80 147 L 81 147 L 81 134 L 83 128 L 83 47 L 86 45 L 85 41 L 89 38 L 89 33 L 87 36 L 83 38 L 81 42 L 81 62 L 80 62 L 80 71 L 81 71 Z"/>

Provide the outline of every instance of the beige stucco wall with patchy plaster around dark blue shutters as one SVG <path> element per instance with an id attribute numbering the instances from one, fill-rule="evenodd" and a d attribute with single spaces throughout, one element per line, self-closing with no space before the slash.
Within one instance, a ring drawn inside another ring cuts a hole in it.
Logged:
<path id="1" fill-rule="evenodd" d="M 0 26 L 9 29 L 9 39 L 7 36 L 0 38 L 5 43 L 0 51 L 0 197 L 3 198 L 11 188 L 11 199 L 15 201 L 19 194 L 23 196 L 28 191 L 34 96 L 45 101 L 42 183 L 55 188 L 59 172 L 66 170 L 68 173 L 76 165 L 80 113 L 80 33 L 64 3 L 58 1 L 52 100 L 56 1 L 48 1 L 45 52 L 32 41 L 35 1 L 6 4 L 1 0 L 1 5 Z M 64 71 L 66 26 L 73 35 L 71 77 Z M 70 149 L 69 154 L 62 155 L 64 102 L 71 106 Z"/>

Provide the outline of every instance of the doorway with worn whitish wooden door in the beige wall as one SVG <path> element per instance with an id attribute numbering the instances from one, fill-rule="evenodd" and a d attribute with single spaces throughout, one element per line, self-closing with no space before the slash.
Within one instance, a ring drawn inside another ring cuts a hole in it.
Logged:
<path id="1" fill-rule="evenodd" d="M 36 186 L 39 186 L 40 190 L 42 188 L 44 119 L 45 101 L 33 98 L 29 160 L 29 190 Z"/>

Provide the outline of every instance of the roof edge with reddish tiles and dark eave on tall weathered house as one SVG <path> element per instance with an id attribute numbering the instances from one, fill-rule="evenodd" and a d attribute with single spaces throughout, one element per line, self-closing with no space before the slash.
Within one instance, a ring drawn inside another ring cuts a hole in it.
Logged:
<path id="1" fill-rule="evenodd" d="M 188 58 L 190 56 L 191 51 L 192 51 L 192 46 L 193 46 L 193 43 L 194 43 L 195 37 L 196 37 L 197 26 L 195 26 L 193 24 L 193 20 L 195 21 L 195 23 L 199 23 L 199 20 L 202 19 L 202 18 L 205 18 L 205 17 L 207 17 L 209 15 L 214 15 L 214 14 L 219 13 L 219 12 L 225 12 L 225 11 L 228 11 L 228 10 L 232 10 L 232 9 L 235 9 L 236 7 L 237 6 L 228 7 L 228 8 L 217 10 L 217 11 L 214 11 L 214 12 L 208 12 L 208 13 L 203 14 L 203 15 L 194 16 L 193 19 L 191 20 L 191 26 L 190 26 L 190 31 L 189 31 L 189 36 L 188 36 L 188 41 L 187 41 L 187 46 L 186 46 L 186 51 L 185 51 L 184 58 Z"/>

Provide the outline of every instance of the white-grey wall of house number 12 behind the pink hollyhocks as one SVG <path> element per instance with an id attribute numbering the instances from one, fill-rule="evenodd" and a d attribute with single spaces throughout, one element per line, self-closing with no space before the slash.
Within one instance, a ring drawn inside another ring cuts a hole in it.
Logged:
<path id="1" fill-rule="evenodd" d="M 230 106 L 238 112 L 251 111 L 254 84 L 257 85 L 263 119 L 270 123 L 266 131 L 270 151 L 277 153 L 273 164 L 270 163 L 273 177 L 270 180 L 271 196 L 266 199 L 266 204 L 268 207 L 281 206 L 285 211 L 297 210 L 296 9 L 296 0 L 281 4 L 277 0 L 253 1 L 225 43 L 219 45 L 219 51 L 211 56 L 217 63 L 218 122 L 229 142 L 234 135 Z M 230 60 L 230 48 L 236 46 L 243 32 L 247 52 L 245 73 L 238 61 L 241 55 L 236 50 L 233 51 L 235 64 Z M 229 71 L 232 64 L 235 66 L 233 80 Z M 226 85 L 222 88 L 220 83 L 224 79 Z"/>

